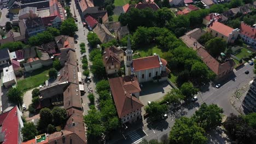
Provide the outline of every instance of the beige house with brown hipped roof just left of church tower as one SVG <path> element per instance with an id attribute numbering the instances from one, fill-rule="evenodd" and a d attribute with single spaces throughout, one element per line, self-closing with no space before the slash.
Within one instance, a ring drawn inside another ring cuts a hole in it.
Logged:
<path id="1" fill-rule="evenodd" d="M 107 47 L 103 52 L 102 60 L 108 75 L 118 73 L 121 62 L 124 61 L 124 51 L 115 46 Z"/>

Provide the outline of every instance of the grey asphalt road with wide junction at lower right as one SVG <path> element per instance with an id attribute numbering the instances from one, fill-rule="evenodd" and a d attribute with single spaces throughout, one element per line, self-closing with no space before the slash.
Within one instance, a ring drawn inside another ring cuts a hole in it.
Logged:
<path id="1" fill-rule="evenodd" d="M 248 75 L 245 74 L 246 70 L 249 71 Z M 234 74 L 230 74 L 226 79 L 216 83 L 212 82 L 209 84 L 210 86 L 202 87 L 202 92 L 196 95 L 198 100 L 195 103 L 186 105 L 177 112 L 168 113 L 168 118 L 165 120 L 154 123 L 153 125 L 145 125 L 142 128 L 138 128 L 135 130 L 136 133 L 129 131 L 124 134 L 126 140 L 123 138 L 113 143 L 139 143 L 142 139 L 160 140 L 164 135 L 168 136 L 176 118 L 181 116 L 192 116 L 203 102 L 206 104 L 217 104 L 219 107 L 222 107 L 225 115 L 229 115 L 230 113 L 238 115 L 239 113 L 230 103 L 230 97 L 235 93 L 236 89 L 241 88 L 252 81 L 253 77 L 253 65 L 247 64 L 235 71 Z M 220 83 L 222 87 L 216 88 L 215 86 L 218 83 Z"/>

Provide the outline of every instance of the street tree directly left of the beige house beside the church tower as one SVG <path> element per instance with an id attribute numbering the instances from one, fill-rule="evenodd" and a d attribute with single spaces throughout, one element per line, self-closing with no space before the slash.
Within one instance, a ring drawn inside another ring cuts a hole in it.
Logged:
<path id="1" fill-rule="evenodd" d="M 106 75 L 106 70 L 103 64 L 102 59 L 95 59 L 91 65 L 91 72 L 95 75 L 95 77 L 101 78 Z"/>

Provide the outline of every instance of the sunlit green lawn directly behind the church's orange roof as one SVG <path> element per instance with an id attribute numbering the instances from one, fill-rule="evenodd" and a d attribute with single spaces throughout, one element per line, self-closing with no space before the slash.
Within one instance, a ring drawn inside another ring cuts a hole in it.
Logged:
<path id="1" fill-rule="evenodd" d="M 159 49 L 158 46 L 153 45 L 153 44 L 149 45 L 147 47 L 139 48 L 138 50 L 136 50 L 133 53 L 136 53 L 136 52 L 138 52 L 141 57 L 152 56 L 153 53 L 156 53 L 157 55 L 160 55 L 160 57 L 162 56 L 162 50 Z"/>

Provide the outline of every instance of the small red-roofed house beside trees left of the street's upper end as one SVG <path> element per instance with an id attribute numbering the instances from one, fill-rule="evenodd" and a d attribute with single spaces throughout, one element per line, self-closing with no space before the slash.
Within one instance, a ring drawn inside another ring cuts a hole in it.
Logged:
<path id="1" fill-rule="evenodd" d="M 60 28 L 61 18 L 57 15 L 42 17 L 45 29 L 48 27 Z"/>

